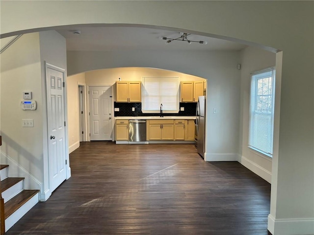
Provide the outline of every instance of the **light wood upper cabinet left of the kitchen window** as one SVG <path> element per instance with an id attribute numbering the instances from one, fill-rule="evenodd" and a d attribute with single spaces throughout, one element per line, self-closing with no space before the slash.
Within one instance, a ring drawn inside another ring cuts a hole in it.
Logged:
<path id="1" fill-rule="evenodd" d="M 117 81 L 117 102 L 141 102 L 141 82 Z"/>

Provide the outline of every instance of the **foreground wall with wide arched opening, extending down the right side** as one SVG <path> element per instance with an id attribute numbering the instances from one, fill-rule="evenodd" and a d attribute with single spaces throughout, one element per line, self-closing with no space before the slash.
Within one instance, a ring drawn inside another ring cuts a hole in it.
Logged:
<path id="1" fill-rule="evenodd" d="M 268 229 L 275 235 L 314 234 L 313 1 L 1 1 L 0 4 L 1 36 L 70 24 L 155 25 L 282 50 L 282 54 L 277 54 L 283 55 L 281 104 L 280 120 L 274 127 L 279 139 L 278 154 L 273 156 L 277 164 L 272 167 L 276 177 L 272 175 Z M 55 14 L 46 14 L 42 9 Z M 12 18 L 12 14 L 19 17 Z M 181 71 L 176 67 L 169 69 Z"/>

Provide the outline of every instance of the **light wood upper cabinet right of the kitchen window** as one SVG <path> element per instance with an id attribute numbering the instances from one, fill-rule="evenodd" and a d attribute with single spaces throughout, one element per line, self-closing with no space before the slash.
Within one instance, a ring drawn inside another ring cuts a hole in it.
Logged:
<path id="1" fill-rule="evenodd" d="M 197 102 L 198 96 L 204 94 L 203 81 L 181 82 L 181 102 Z"/>

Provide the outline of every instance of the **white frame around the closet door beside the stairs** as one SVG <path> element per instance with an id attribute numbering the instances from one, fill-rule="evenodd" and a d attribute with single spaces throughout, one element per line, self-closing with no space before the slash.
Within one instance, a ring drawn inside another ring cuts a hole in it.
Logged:
<path id="1" fill-rule="evenodd" d="M 47 158 L 44 157 L 44 164 L 46 162 L 46 166 L 47 167 L 44 167 L 44 175 L 47 176 L 44 177 L 46 178 L 47 180 L 44 180 L 44 184 L 45 183 L 48 183 L 48 187 L 47 186 L 44 186 L 44 192 L 41 192 L 40 193 L 40 200 L 41 201 L 46 201 L 50 195 L 52 194 L 52 191 L 50 190 L 50 177 L 49 177 L 49 133 L 48 133 L 48 103 L 47 103 L 47 79 L 48 79 L 48 69 L 52 69 L 52 70 L 55 70 L 55 71 L 59 71 L 59 72 L 62 72 L 63 73 L 63 76 L 64 76 L 64 90 L 63 90 L 63 94 L 64 94 L 64 120 L 66 122 L 66 125 L 65 125 L 65 128 L 64 128 L 64 131 L 65 131 L 65 145 L 64 145 L 64 153 L 65 153 L 65 158 L 67 160 L 67 165 L 66 165 L 66 179 L 69 179 L 71 177 L 71 168 L 70 168 L 70 159 L 69 159 L 69 134 L 68 134 L 68 113 L 67 113 L 67 110 L 68 110 L 68 105 L 67 105 L 67 92 L 66 92 L 66 87 L 67 87 L 67 79 L 66 79 L 66 72 L 65 72 L 65 69 L 62 69 L 60 67 L 57 67 L 57 66 L 54 66 L 52 64 L 49 64 L 45 61 L 45 76 L 46 76 L 46 79 L 45 79 L 45 106 L 46 106 L 46 110 L 45 110 L 45 115 L 46 115 L 46 120 L 44 120 L 44 124 L 46 124 L 46 131 L 44 131 L 44 136 L 43 136 L 43 141 L 45 142 L 44 146 L 47 146 L 45 147 L 46 148 L 46 153 L 44 153 L 44 156 L 47 156 Z"/>

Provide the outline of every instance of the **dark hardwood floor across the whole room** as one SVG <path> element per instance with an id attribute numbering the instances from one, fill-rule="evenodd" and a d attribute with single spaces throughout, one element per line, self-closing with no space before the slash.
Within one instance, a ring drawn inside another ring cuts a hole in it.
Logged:
<path id="1" fill-rule="evenodd" d="M 83 142 L 70 166 L 7 235 L 270 235 L 270 184 L 193 144 Z"/>

